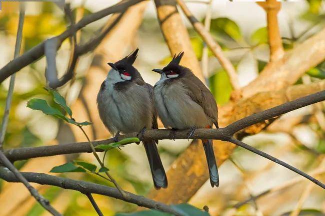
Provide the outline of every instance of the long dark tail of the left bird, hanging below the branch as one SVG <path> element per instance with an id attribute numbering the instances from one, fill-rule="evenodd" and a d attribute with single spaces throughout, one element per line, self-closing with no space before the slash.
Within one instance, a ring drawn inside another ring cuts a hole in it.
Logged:
<path id="1" fill-rule="evenodd" d="M 154 188 L 167 188 L 167 177 L 163 169 L 155 142 L 153 140 L 144 141 L 143 146 L 149 161 Z"/>

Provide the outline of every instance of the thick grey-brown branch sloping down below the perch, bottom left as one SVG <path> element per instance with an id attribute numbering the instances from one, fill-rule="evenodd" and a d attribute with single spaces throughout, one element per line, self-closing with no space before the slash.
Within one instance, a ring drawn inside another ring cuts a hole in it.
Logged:
<path id="1" fill-rule="evenodd" d="M 125 192 L 128 196 L 123 198 L 119 191 L 115 188 L 98 185 L 94 183 L 76 181 L 72 179 L 66 179 L 61 177 L 55 177 L 47 174 L 40 173 L 21 173 L 28 182 L 37 183 L 40 185 L 51 185 L 60 187 L 63 189 L 69 189 L 74 191 L 79 191 L 82 194 L 99 194 L 118 200 L 123 200 L 128 203 L 133 203 L 141 207 L 155 209 L 166 213 L 171 213 L 176 216 L 181 216 L 178 212 L 173 210 L 171 207 L 159 203 L 153 200 L 149 200 L 143 196 L 138 196 L 129 192 Z M 8 170 L 0 168 L 0 177 L 7 182 L 19 182 L 19 180 Z"/>

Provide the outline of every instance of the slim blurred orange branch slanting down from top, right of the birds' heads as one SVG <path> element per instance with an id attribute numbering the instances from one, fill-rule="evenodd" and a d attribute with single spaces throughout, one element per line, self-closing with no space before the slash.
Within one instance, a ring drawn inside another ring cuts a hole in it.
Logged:
<path id="1" fill-rule="evenodd" d="M 183 0 L 176 0 L 176 1 L 181 7 L 181 9 L 183 10 L 188 20 L 190 21 L 190 23 L 193 25 L 194 29 L 202 37 L 206 45 L 212 51 L 213 55 L 218 59 L 221 66 L 227 72 L 232 88 L 235 90 L 239 89 L 238 75 L 233 65 L 229 61 L 229 59 L 226 58 L 225 55 L 223 54 L 220 45 L 213 39 L 211 34 L 204 28 L 203 24 L 193 16 L 193 14 L 190 12 L 190 10 L 188 9 L 184 1 Z"/>

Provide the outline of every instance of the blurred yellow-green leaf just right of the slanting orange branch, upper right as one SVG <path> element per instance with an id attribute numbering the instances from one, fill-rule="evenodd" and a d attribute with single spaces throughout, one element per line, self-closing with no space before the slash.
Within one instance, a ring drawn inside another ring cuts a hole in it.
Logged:
<path id="1" fill-rule="evenodd" d="M 242 38 L 239 26 L 226 17 L 211 19 L 210 31 L 216 36 L 226 37 L 234 41 Z"/>

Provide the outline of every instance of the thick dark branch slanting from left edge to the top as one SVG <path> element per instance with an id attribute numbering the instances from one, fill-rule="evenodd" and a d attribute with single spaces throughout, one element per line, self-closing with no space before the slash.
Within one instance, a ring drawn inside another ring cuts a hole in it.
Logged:
<path id="1" fill-rule="evenodd" d="M 71 25 L 68 29 L 66 29 L 61 34 L 57 35 L 58 45 L 57 48 L 61 45 L 63 40 L 73 35 L 74 32 L 81 29 L 82 27 L 86 26 L 87 24 L 94 22 L 98 19 L 101 19 L 104 16 L 107 16 L 111 13 L 117 13 L 125 11 L 129 6 L 136 4 L 142 0 L 124 0 L 120 3 L 116 3 L 113 6 L 107 7 L 105 9 L 99 10 L 95 13 L 85 16 L 76 24 Z M 33 61 L 37 60 L 41 56 L 44 55 L 44 44 L 45 41 L 39 43 L 38 45 L 34 46 L 23 55 L 15 58 L 14 60 L 7 63 L 3 68 L 0 69 L 0 82 L 5 80 L 11 74 L 19 71 L 21 68 L 27 66 L 28 64 L 32 63 Z"/>

